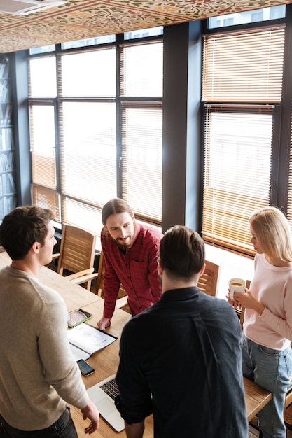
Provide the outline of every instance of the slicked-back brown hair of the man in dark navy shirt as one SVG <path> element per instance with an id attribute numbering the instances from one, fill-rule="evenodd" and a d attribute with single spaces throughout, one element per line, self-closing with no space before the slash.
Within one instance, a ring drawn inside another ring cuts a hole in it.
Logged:
<path id="1" fill-rule="evenodd" d="M 160 241 L 160 263 L 169 276 L 191 278 L 200 272 L 204 259 L 204 241 L 193 229 L 175 225 Z"/>

